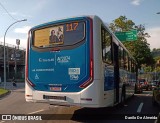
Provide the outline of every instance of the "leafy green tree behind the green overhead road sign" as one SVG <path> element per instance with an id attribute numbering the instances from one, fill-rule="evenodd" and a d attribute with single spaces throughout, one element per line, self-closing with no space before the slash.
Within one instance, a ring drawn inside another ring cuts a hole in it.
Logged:
<path id="1" fill-rule="evenodd" d="M 150 36 L 148 33 L 145 33 L 144 25 L 135 25 L 135 23 L 132 20 L 127 19 L 126 16 L 120 16 L 119 18 L 113 20 L 113 23 L 110 23 L 109 27 L 113 32 L 129 31 L 133 29 L 137 30 L 137 41 L 126 41 L 122 43 L 135 57 L 139 68 L 141 68 L 142 64 L 154 64 L 154 59 L 146 39 L 146 37 L 148 38 Z"/>

